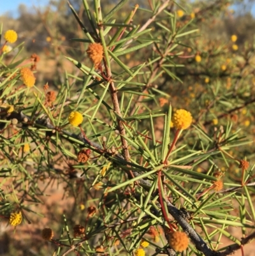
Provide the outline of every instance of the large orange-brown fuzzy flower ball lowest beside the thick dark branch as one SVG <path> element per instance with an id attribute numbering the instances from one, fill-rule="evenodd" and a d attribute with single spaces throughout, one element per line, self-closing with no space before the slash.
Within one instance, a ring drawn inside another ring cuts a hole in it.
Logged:
<path id="1" fill-rule="evenodd" d="M 189 237 L 185 232 L 171 232 L 169 237 L 169 245 L 177 252 L 183 252 L 189 245 Z"/>

